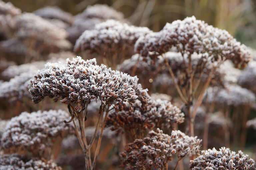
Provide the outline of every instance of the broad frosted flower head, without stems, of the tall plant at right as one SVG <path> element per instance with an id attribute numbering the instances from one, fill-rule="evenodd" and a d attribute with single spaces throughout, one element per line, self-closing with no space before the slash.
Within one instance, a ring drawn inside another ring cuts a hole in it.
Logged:
<path id="1" fill-rule="evenodd" d="M 171 47 L 187 54 L 207 54 L 212 61 L 230 59 L 238 66 L 250 59 L 247 47 L 227 31 L 196 20 L 194 16 L 167 23 L 160 32 L 141 37 L 135 44 L 137 53 L 153 59 L 168 52 Z"/>

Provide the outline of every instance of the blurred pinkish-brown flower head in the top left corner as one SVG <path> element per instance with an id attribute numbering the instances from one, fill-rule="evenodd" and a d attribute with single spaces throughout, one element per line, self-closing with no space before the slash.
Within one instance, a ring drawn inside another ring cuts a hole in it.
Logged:
<path id="1" fill-rule="evenodd" d="M 3 2 L 0 0 L 0 14 L 16 16 L 21 14 L 21 10 L 12 5 L 11 2 Z"/>

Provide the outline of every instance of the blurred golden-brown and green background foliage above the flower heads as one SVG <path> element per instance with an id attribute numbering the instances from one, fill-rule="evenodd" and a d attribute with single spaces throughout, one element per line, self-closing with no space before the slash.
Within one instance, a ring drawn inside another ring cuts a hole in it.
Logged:
<path id="1" fill-rule="evenodd" d="M 166 22 L 194 15 L 227 30 L 238 41 L 256 48 L 256 0 L 4 0 L 22 11 L 58 6 L 73 15 L 88 5 L 107 4 L 124 13 L 134 25 L 159 31 Z"/>

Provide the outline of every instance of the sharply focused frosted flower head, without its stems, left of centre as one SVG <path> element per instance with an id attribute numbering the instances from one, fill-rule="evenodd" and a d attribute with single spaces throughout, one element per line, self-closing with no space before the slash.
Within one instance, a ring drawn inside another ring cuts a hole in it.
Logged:
<path id="1" fill-rule="evenodd" d="M 85 61 L 77 56 L 67 59 L 66 64 L 47 63 L 31 79 L 29 92 L 34 103 L 46 96 L 56 101 L 61 98 L 62 103 L 72 102 L 79 111 L 87 100 L 99 99 L 104 105 L 115 104 L 116 110 L 122 110 L 124 102 L 137 99 L 137 81 L 137 77 L 97 65 L 95 58 Z"/>

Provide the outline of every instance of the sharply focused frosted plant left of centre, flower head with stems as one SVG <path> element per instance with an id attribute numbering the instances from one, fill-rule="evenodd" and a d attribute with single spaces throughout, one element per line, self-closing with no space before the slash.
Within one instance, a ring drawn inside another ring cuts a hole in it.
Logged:
<path id="1" fill-rule="evenodd" d="M 34 103 L 38 103 L 45 96 L 49 96 L 55 98 L 55 101 L 61 98 L 60 101 L 68 105 L 71 119 L 67 123 L 73 121 L 89 170 L 95 167 L 108 112 L 113 109 L 121 111 L 125 102 L 135 102 L 138 97 L 135 89 L 138 90 L 137 88 L 141 87 L 138 86 L 137 81 L 137 77 L 111 70 L 103 64 L 97 65 L 95 59 L 85 61 L 77 56 L 72 60 L 67 59 L 66 64 L 46 64 L 45 68 L 31 79 L 29 92 Z M 91 100 L 101 102 L 101 105 L 94 135 L 91 141 L 87 143 L 84 121 L 86 120 L 87 106 Z M 105 114 L 103 114 L 104 112 Z M 79 129 L 74 118 L 78 120 Z M 101 122 L 101 133 L 93 163 L 91 163 L 90 148 L 97 136 Z"/>

